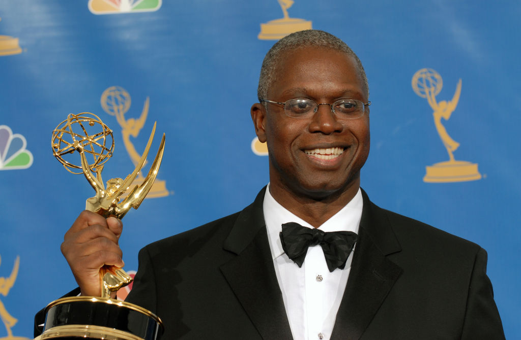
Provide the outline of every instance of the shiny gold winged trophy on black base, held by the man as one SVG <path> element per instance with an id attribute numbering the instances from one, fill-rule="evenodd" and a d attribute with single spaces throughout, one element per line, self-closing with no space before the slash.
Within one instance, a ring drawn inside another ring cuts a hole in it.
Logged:
<path id="1" fill-rule="evenodd" d="M 94 188 L 94 197 L 86 201 L 87 210 L 104 217 L 122 218 L 130 208 L 140 206 L 152 188 L 165 150 L 163 134 L 150 171 L 139 184 L 134 184 L 150 150 L 155 129 L 154 123 L 134 171 L 125 179 L 109 179 L 106 187 L 101 173 L 104 164 L 113 155 L 112 130 L 89 112 L 71 113 L 54 129 L 51 144 L 56 159 L 67 171 L 83 174 Z M 76 154 L 79 154 L 80 164 Z M 41 338 L 155 339 L 163 328 L 158 317 L 139 306 L 110 299 L 111 292 L 131 281 L 132 278 L 121 268 L 103 266 L 100 269 L 101 297 L 67 297 L 49 304 Z"/>

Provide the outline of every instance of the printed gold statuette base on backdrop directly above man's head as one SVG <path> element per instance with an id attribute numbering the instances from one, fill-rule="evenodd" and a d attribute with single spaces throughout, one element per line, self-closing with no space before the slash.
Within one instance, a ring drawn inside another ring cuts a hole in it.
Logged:
<path id="1" fill-rule="evenodd" d="M 290 18 L 288 8 L 293 5 L 293 0 L 277 0 L 284 14 L 284 18 L 271 20 L 261 24 L 261 40 L 279 40 L 284 36 L 297 31 L 311 30 L 311 21 Z"/>

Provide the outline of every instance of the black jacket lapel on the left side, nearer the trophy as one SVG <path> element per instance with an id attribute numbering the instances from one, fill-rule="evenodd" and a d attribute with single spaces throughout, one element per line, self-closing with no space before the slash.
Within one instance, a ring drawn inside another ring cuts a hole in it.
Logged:
<path id="1" fill-rule="evenodd" d="M 292 339 L 264 222 L 265 190 L 239 214 L 224 244 L 237 256 L 220 269 L 264 339 Z"/>

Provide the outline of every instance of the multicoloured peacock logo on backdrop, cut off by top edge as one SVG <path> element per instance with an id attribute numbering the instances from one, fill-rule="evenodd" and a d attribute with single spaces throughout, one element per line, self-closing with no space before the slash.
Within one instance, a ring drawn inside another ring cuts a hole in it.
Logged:
<path id="1" fill-rule="evenodd" d="M 93 14 L 153 12 L 161 4 L 162 0 L 89 0 L 89 10 Z"/>

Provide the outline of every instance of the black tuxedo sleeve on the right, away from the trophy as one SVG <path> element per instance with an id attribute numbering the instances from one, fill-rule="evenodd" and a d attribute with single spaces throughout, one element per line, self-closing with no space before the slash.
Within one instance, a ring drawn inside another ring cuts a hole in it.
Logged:
<path id="1" fill-rule="evenodd" d="M 462 340 L 500 340 L 505 338 L 492 283 L 487 276 L 487 252 L 479 249 L 468 289 Z"/>

